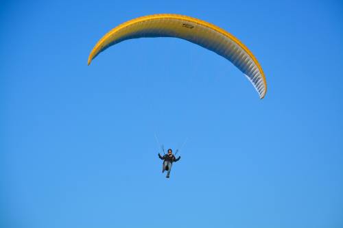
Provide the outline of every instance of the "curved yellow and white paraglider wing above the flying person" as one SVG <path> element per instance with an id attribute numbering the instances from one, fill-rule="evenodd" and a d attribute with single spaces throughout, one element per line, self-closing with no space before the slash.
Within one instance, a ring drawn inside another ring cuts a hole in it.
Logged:
<path id="1" fill-rule="evenodd" d="M 123 23 L 97 42 L 88 57 L 88 65 L 102 51 L 123 40 L 143 37 L 175 37 L 188 40 L 232 62 L 251 81 L 263 99 L 267 83 L 262 68 L 251 51 L 224 29 L 190 16 L 154 14 Z"/>

